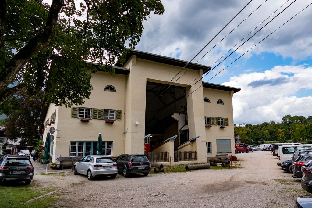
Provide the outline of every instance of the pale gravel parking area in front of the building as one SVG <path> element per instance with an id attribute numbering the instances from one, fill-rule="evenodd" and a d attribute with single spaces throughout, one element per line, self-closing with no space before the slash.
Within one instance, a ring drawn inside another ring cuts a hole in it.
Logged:
<path id="1" fill-rule="evenodd" d="M 236 156 L 242 168 L 95 181 L 63 172 L 36 174 L 32 183 L 57 187 L 58 207 L 293 207 L 297 196 L 309 195 L 299 179 L 277 166 L 271 152 Z"/>

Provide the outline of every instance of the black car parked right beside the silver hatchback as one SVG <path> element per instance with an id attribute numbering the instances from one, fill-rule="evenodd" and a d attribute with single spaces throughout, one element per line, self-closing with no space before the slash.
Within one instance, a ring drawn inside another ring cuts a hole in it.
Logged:
<path id="1" fill-rule="evenodd" d="M 122 172 L 124 177 L 133 173 L 143 173 L 144 176 L 147 176 L 151 171 L 151 163 L 143 154 L 122 154 L 115 161 L 118 172 Z"/>

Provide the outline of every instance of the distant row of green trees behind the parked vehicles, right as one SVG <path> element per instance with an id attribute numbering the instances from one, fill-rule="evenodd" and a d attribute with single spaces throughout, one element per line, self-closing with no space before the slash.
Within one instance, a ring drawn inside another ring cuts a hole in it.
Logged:
<path id="1" fill-rule="evenodd" d="M 258 125 L 242 123 L 234 125 L 234 135 L 241 136 L 240 141 L 248 144 L 265 141 L 304 142 L 312 140 L 312 116 L 285 115 L 281 122 L 270 121 Z"/>

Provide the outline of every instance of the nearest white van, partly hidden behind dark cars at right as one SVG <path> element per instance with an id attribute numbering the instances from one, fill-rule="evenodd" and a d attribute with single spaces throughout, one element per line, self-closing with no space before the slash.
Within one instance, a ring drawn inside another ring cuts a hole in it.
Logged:
<path id="1" fill-rule="evenodd" d="M 278 163 L 277 165 L 281 165 L 282 162 L 291 159 L 297 150 L 311 150 L 312 144 L 306 145 L 284 145 L 280 146 L 278 149 Z"/>

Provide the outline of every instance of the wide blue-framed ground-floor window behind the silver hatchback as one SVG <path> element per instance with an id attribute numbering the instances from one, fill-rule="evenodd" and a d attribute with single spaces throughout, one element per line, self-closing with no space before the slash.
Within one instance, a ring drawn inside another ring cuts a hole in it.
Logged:
<path id="1" fill-rule="evenodd" d="M 112 156 L 113 153 L 112 141 L 103 141 L 102 148 L 103 155 Z M 71 141 L 69 156 L 75 157 L 75 156 L 95 155 L 96 149 L 97 149 L 97 141 Z"/>

